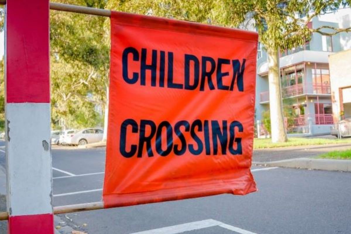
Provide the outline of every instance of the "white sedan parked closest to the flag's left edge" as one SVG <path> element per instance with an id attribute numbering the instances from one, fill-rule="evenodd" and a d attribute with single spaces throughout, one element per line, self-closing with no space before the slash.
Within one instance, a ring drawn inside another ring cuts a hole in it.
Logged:
<path id="1" fill-rule="evenodd" d="M 99 128 L 87 128 L 77 131 L 73 134 L 67 134 L 65 138 L 66 144 L 72 145 L 85 145 L 88 143 L 94 143 L 102 141 L 104 131 Z"/>

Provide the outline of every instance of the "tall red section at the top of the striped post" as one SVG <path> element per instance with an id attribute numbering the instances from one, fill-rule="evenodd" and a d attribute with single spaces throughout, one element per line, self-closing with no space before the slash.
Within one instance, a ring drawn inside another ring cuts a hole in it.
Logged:
<path id="1" fill-rule="evenodd" d="M 49 103 L 49 1 L 7 0 L 7 103 Z"/>

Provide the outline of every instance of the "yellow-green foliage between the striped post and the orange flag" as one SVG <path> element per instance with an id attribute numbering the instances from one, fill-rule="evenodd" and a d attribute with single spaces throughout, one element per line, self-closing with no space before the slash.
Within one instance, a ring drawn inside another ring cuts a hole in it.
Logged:
<path id="1" fill-rule="evenodd" d="M 104 8 L 105 0 L 60 0 L 65 4 Z M 109 41 L 107 19 L 93 15 L 51 11 L 51 107 L 53 128 L 101 126 L 95 111 L 106 105 Z"/>

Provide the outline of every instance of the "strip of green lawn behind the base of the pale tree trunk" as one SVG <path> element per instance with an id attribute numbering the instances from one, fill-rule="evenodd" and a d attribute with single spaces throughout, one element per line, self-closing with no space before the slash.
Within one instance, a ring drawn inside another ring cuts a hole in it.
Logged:
<path id="1" fill-rule="evenodd" d="M 324 144 L 340 144 L 340 143 L 351 143 L 350 139 L 325 139 L 325 138 L 303 138 L 303 137 L 289 137 L 287 142 L 283 143 L 272 143 L 271 139 L 258 139 L 254 138 L 253 148 L 264 149 L 264 148 L 277 148 L 287 146 L 298 146 L 298 145 L 324 145 Z"/>

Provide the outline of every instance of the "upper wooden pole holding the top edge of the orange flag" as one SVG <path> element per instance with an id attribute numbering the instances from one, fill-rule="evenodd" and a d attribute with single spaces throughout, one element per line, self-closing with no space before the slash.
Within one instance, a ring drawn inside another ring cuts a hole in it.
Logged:
<path id="1" fill-rule="evenodd" d="M 0 0 L 0 5 L 5 5 L 5 4 L 6 4 L 6 0 Z M 103 16 L 103 17 L 111 16 L 110 10 L 62 4 L 62 3 L 56 3 L 56 2 L 50 2 L 50 9 L 56 10 L 56 11 L 74 12 L 74 13 L 97 15 L 97 16 Z"/>

